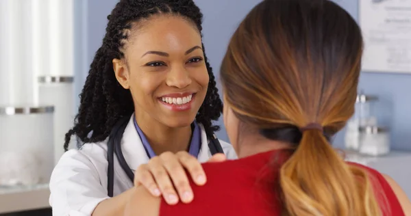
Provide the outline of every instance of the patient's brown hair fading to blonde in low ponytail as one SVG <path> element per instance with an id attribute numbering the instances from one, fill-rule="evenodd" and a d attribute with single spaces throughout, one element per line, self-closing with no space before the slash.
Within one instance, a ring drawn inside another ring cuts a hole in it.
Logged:
<path id="1" fill-rule="evenodd" d="M 353 115 L 362 46 L 356 21 L 327 0 L 262 1 L 229 42 L 227 103 L 242 123 L 295 145 L 279 172 L 286 215 L 381 213 L 366 172 L 327 139 Z M 299 130 L 313 122 L 323 131 Z"/>

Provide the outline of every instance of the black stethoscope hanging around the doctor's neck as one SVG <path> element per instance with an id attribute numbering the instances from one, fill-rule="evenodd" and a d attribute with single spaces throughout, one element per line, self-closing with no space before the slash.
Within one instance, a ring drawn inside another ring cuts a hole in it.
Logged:
<path id="1" fill-rule="evenodd" d="M 121 168 L 124 170 L 125 174 L 129 177 L 129 179 L 134 182 L 134 173 L 132 169 L 127 165 L 125 161 L 123 151 L 121 150 L 121 139 L 123 138 L 123 133 L 125 128 L 129 122 L 131 116 L 126 116 L 121 118 L 116 124 L 114 125 L 110 137 L 108 138 L 108 150 L 107 150 L 107 160 L 108 160 L 108 196 L 111 198 L 113 196 L 114 191 L 114 153 L 116 154 L 117 159 L 119 160 L 119 164 Z M 210 153 L 212 155 L 216 153 L 223 153 L 223 148 L 221 148 L 221 144 L 219 139 L 217 139 L 216 135 L 213 133 L 212 136 L 207 135 L 210 142 L 208 143 L 208 148 L 210 149 Z"/>

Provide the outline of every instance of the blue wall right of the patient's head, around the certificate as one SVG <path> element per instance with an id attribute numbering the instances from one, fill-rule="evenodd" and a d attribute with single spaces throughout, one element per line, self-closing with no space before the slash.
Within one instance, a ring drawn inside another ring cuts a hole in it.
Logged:
<path id="1" fill-rule="evenodd" d="M 358 1 L 334 0 L 358 20 Z M 359 90 L 379 97 L 375 116 L 390 126 L 391 147 L 411 150 L 411 74 L 362 72 Z M 334 146 L 343 148 L 344 133 L 334 139 Z"/>

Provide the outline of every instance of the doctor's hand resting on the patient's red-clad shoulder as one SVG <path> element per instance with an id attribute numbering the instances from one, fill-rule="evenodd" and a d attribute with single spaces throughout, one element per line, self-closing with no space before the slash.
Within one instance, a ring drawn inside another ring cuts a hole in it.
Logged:
<path id="1" fill-rule="evenodd" d="M 225 159 L 224 154 L 216 154 L 209 162 Z M 185 151 L 176 154 L 164 152 L 158 157 L 153 157 L 149 163 L 138 167 L 134 186 L 143 185 L 152 195 L 162 195 L 168 204 L 177 204 L 179 200 L 189 203 L 194 195 L 188 178 L 192 178 L 196 185 L 206 184 L 206 174 L 201 163 Z"/>

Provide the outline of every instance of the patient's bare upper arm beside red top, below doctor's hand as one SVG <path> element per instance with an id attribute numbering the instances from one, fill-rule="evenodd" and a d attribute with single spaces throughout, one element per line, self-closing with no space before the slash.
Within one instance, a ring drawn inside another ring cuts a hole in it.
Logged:
<path id="1" fill-rule="evenodd" d="M 161 199 L 151 195 L 145 187 L 138 186 L 129 191 L 131 197 L 124 208 L 124 216 L 158 216 Z"/>

